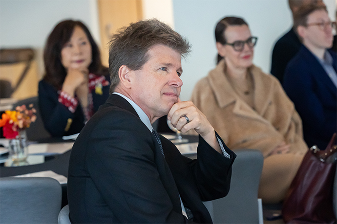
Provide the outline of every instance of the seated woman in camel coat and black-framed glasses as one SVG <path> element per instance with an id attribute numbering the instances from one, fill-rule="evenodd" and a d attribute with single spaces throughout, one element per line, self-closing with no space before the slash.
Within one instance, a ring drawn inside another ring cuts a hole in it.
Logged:
<path id="1" fill-rule="evenodd" d="M 221 19 L 215 39 L 218 64 L 198 81 L 191 101 L 230 149 L 262 152 L 259 197 L 280 202 L 308 150 L 301 119 L 279 81 L 253 65 L 257 37 L 244 19 Z"/>

